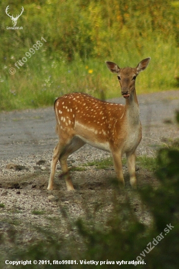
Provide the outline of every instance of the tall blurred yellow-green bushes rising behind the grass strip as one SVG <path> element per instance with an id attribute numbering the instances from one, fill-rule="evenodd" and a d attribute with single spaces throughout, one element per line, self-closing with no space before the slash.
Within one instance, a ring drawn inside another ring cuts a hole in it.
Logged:
<path id="1" fill-rule="evenodd" d="M 5 14 L 7 4 L 10 15 L 19 14 L 23 5 L 17 23 L 23 30 L 7 31 L 6 26 L 11 26 Z M 132 53 L 140 54 L 144 40 L 159 38 L 168 43 L 171 36 L 179 45 L 178 16 L 179 7 L 169 0 L 2 1 L 0 59 L 14 55 L 18 60 L 41 36 L 48 41 L 46 56 L 55 53 L 68 60 L 74 60 L 76 53 L 83 59 L 104 59 L 123 47 L 133 47 Z"/>

